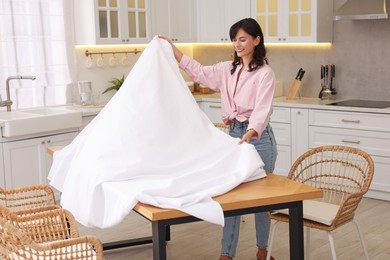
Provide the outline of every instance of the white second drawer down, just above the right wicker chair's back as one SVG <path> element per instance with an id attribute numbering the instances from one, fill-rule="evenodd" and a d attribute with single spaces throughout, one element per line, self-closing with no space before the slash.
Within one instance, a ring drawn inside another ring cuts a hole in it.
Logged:
<path id="1" fill-rule="evenodd" d="M 370 155 L 390 157 L 390 133 L 309 127 L 309 148 L 321 145 L 345 145 L 357 147 Z"/>

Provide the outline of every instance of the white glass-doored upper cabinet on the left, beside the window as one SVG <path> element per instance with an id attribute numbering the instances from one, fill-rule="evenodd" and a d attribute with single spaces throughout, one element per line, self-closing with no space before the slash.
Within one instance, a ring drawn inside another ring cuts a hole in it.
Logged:
<path id="1" fill-rule="evenodd" d="M 148 43 L 150 0 L 73 1 L 76 44 Z"/>

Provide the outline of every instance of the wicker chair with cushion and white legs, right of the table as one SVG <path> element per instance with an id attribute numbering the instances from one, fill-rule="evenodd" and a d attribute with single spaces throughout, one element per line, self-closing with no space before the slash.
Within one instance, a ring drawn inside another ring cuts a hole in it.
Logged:
<path id="1" fill-rule="evenodd" d="M 368 191 L 373 174 L 374 163 L 371 157 L 352 147 L 321 146 L 304 153 L 295 161 L 288 178 L 320 188 L 324 192 L 321 201 L 303 202 L 306 259 L 309 259 L 310 228 L 327 232 L 332 257 L 336 259 L 332 231 L 349 222 L 355 224 L 365 257 L 369 259 L 363 234 L 354 215 L 363 195 Z M 275 211 L 270 214 L 271 219 L 276 222 L 271 228 L 268 255 L 271 255 L 277 225 L 280 221 L 288 222 L 286 214 L 288 210 Z"/>

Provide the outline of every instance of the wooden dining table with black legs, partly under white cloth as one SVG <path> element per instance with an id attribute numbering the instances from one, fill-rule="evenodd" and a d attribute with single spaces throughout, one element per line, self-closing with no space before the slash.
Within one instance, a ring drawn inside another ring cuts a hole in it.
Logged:
<path id="1" fill-rule="evenodd" d="M 49 154 L 62 147 L 49 147 Z M 322 198 L 321 189 L 269 173 L 266 177 L 241 183 L 234 189 L 213 197 L 221 205 L 225 217 L 241 216 L 272 210 L 289 210 L 289 248 L 291 260 L 304 259 L 303 200 Z M 151 222 L 152 236 L 103 245 L 104 250 L 153 244 L 153 260 L 167 259 L 166 244 L 171 240 L 170 226 L 201 221 L 176 209 L 159 208 L 138 202 L 133 211 Z"/>

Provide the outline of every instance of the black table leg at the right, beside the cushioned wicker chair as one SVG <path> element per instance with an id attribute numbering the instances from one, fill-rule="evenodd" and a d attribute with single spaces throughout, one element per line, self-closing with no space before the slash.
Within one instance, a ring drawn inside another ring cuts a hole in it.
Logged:
<path id="1" fill-rule="evenodd" d="M 290 259 L 304 260 L 302 201 L 295 204 L 296 207 L 289 208 Z"/>

